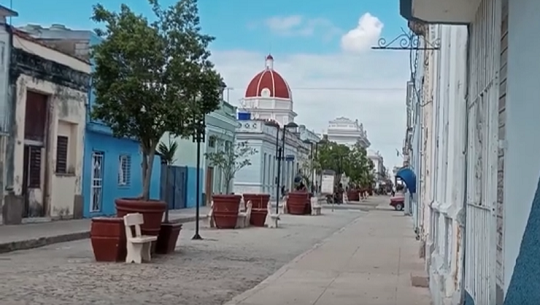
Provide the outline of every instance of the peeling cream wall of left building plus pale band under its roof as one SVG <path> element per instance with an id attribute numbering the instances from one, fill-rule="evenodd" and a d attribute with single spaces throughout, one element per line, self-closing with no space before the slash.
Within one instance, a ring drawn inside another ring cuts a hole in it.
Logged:
<path id="1" fill-rule="evenodd" d="M 90 73 L 90 65 L 22 37 L 14 39 L 14 47 L 71 69 Z M 15 81 L 15 126 L 13 151 L 13 190 L 21 195 L 23 189 L 24 145 L 27 92 L 48 96 L 48 123 L 45 147 L 42 151 L 41 187 L 29 189 L 31 209 L 44 209 L 51 218 L 71 218 L 76 197 L 81 195 L 81 176 L 84 153 L 84 129 L 88 100 L 86 91 L 79 91 L 45 81 L 35 76 L 19 75 Z M 31 118 L 30 118 L 31 119 Z M 68 137 L 67 173 L 56 173 L 57 137 Z"/>

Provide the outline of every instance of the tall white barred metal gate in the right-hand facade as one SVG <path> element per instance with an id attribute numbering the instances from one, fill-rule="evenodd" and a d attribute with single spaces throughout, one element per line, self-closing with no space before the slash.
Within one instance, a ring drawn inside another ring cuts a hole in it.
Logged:
<path id="1" fill-rule="evenodd" d="M 469 33 L 465 290 L 495 304 L 500 0 L 483 0 Z"/>

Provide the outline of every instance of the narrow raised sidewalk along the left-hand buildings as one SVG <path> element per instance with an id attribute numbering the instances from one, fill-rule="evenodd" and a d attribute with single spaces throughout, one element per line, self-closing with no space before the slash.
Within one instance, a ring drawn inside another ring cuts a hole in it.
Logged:
<path id="1" fill-rule="evenodd" d="M 206 218 L 207 207 L 200 216 Z M 172 222 L 195 221 L 195 208 L 170 211 Z M 0 253 L 43 247 L 90 237 L 90 219 L 58 220 L 22 225 L 0 226 Z"/>

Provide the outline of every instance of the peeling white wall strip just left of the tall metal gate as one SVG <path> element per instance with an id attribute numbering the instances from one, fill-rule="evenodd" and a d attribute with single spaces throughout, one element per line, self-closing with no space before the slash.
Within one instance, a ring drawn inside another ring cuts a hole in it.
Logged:
<path id="1" fill-rule="evenodd" d="M 431 81 L 434 89 L 434 124 L 431 137 L 434 159 L 431 169 L 433 201 L 431 258 L 428 261 L 433 304 L 458 304 L 462 281 L 462 234 L 465 179 L 465 111 L 467 28 L 435 27 L 440 50 Z"/>

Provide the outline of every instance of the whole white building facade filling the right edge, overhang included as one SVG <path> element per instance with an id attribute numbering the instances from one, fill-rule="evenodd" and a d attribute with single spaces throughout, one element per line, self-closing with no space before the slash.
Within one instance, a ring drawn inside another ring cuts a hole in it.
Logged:
<path id="1" fill-rule="evenodd" d="M 539 11 L 534 0 L 402 1 L 404 17 L 432 30 L 427 39 L 441 38 L 440 60 L 427 69 L 436 82 L 434 200 L 424 203 L 434 304 L 540 299 L 540 139 L 528 136 L 540 127 L 540 43 L 531 40 Z"/>

